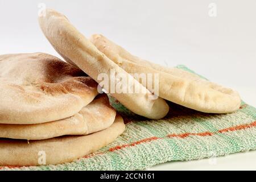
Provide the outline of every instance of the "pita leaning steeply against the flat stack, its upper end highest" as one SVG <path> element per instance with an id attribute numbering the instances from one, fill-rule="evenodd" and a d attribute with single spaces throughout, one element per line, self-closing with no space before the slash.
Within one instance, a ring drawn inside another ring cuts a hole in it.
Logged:
<path id="1" fill-rule="evenodd" d="M 136 114 L 143 115 L 151 119 L 163 118 L 169 110 L 169 107 L 162 98 L 150 99 L 153 94 L 135 80 L 130 74 L 118 67 L 112 60 L 98 51 L 98 49 L 75 27 L 69 23 L 68 19 L 57 11 L 47 9 L 46 16 L 39 17 L 39 24 L 57 52 L 71 64 L 77 65 L 94 80 L 98 80 L 101 73 L 106 73 L 111 77 L 111 70 L 116 74 L 125 75 L 127 80 L 133 84 L 127 85 L 128 88 L 139 88 L 138 93 L 118 93 L 103 85 L 103 88 L 119 102 Z M 110 79 L 117 85 L 117 80 Z M 101 85 L 101 84 L 100 84 Z M 101 85 L 102 86 L 102 85 Z"/>

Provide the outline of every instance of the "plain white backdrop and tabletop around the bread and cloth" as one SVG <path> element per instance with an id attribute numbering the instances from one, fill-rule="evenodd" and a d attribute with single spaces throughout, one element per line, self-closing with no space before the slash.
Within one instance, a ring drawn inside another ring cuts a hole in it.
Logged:
<path id="1" fill-rule="evenodd" d="M 219 84 L 238 90 L 256 106 L 256 1 L 3 1 L 0 54 L 57 55 L 37 22 L 38 4 L 67 15 L 85 36 L 100 33 L 134 55 L 168 67 L 187 65 Z M 216 3 L 217 16 L 208 15 Z M 59 56 L 60 57 L 60 56 Z M 256 152 L 171 162 L 151 169 L 256 169 Z"/>

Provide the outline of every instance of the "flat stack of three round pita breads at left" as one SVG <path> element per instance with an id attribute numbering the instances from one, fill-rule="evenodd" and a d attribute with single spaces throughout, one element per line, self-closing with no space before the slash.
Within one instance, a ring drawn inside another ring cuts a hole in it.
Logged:
<path id="1" fill-rule="evenodd" d="M 0 56 L 0 100 L 0 166 L 71 162 L 125 129 L 97 82 L 46 53 Z"/>

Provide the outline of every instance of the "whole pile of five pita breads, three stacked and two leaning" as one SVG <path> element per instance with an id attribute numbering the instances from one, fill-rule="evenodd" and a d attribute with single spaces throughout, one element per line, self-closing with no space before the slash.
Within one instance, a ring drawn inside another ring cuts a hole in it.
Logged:
<path id="1" fill-rule="evenodd" d="M 167 115 L 166 100 L 206 113 L 230 113 L 240 107 L 236 91 L 142 60 L 102 35 L 86 39 L 55 10 L 46 9 L 39 24 L 67 63 L 46 53 L 0 56 L 0 138 L 8 138 L 0 141 L 0 165 L 39 165 L 40 151 L 46 154 L 46 164 L 71 162 L 122 134 L 123 119 L 108 96 L 98 94 L 98 84 L 150 119 Z M 98 75 L 111 77 L 112 69 L 131 81 L 129 88 L 141 92 L 112 93 L 101 85 Z M 152 99 L 154 88 L 130 73 L 157 73 L 159 97 Z"/>

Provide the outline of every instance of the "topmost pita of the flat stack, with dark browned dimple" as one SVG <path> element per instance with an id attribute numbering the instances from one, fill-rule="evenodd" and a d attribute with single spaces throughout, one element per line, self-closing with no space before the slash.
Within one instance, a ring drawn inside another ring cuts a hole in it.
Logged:
<path id="1" fill-rule="evenodd" d="M 97 82 L 46 53 L 0 55 L 0 123 L 71 117 L 98 94 Z"/>

